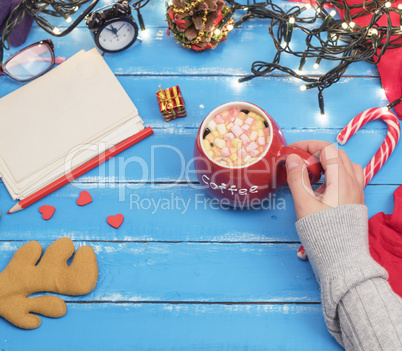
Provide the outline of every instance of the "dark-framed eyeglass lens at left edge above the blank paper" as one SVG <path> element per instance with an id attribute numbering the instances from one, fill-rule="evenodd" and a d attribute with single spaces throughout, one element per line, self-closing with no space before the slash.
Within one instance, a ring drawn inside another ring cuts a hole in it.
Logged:
<path id="1" fill-rule="evenodd" d="M 54 45 L 50 39 L 41 40 L 12 55 L 0 66 L 0 74 L 5 73 L 19 82 L 27 82 L 45 74 L 55 63 L 60 64 L 65 60 L 65 57 L 54 57 Z"/>

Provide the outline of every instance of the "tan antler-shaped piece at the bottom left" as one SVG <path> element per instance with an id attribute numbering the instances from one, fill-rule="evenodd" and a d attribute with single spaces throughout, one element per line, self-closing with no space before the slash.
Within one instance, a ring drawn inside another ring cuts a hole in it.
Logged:
<path id="1" fill-rule="evenodd" d="M 91 292 L 98 279 L 95 252 L 90 246 L 82 246 L 68 265 L 73 253 L 74 244 L 69 238 L 53 242 L 42 258 L 42 246 L 37 241 L 20 247 L 0 273 L 0 316 L 23 329 L 39 327 L 41 319 L 32 313 L 64 316 L 67 307 L 59 297 L 28 296 L 38 292 L 73 296 Z"/>

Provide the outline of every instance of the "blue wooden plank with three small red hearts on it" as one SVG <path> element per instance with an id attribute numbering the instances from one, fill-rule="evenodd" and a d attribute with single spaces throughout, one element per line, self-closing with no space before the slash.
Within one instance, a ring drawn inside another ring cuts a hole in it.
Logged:
<path id="1" fill-rule="evenodd" d="M 93 203 L 81 208 L 75 201 L 84 188 L 92 195 Z M 396 188 L 366 188 L 370 217 L 380 211 L 392 212 Z M 0 199 L 2 240 L 41 241 L 69 236 L 75 240 L 107 241 L 298 241 L 287 187 L 270 202 L 264 202 L 265 209 L 242 211 L 219 208 L 203 190 L 187 184 L 71 184 L 11 215 L 5 214 L 12 201 L 3 185 Z M 44 204 L 56 207 L 47 222 L 38 212 Z M 109 215 L 117 213 L 125 216 L 118 230 L 106 223 Z"/>

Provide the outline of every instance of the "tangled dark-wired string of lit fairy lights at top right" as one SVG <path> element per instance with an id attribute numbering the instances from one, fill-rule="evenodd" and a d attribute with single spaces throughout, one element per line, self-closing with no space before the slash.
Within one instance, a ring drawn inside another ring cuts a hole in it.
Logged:
<path id="1" fill-rule="evenodd" d="M 302 91 L 318 89 L 322 115 L 325 114 L 323 90 L 338 82 L 349 65 L 360 61 L 376 64 L 386 50 L 402 46 L 402 4 L 393 7 L 393 1 L 365 0 L 361 4 L 348 5 L 345 0 L 322 0 L 317 1 L 316 6 L 309 3 L 293 6 L 287 11 L 271 0 L 246 5 L 234 0 L 227 2 L 235 11 L 246 12 L 235 22 L 235 27 L 253 18 L 271 19 L 268 32 L 276 49 L 272 62 L 255 61 L 251 67 L 252 74 L 240 78 L 239 82 L 265 76 L 275 70 L 282 71 L 304 81 L 305 84 L 300 87 Z M 327 5 L 332 7 L 329 12 Z M 334 18 L 337 11 L 333 7 L 343 11 L 344 19 Z M 308 9 L 314 9 L 312 16 L 304 15 Z M 399 26 L 392 24 L 392 14 L 399 16 Z M 359 27 L 354 21 L 366 15 L 371 15 L 369 23 L 364 28 Z M 386 26 L 379 24 L 382 16 L 386 17 Z M 293 49 L 291 40 L 294 30 L 304 35 L 303 51 Z M 300 58 L 297 69 L 280 64 L 284 53 Z M 333 61 L 336 65 L 317 78 L 303 74 L 304 65 L 311 59 L 315 60 L 316 69 L 322 60 Z M 387 108 L 391 109 L 401 100 L 391 102 Z"/>

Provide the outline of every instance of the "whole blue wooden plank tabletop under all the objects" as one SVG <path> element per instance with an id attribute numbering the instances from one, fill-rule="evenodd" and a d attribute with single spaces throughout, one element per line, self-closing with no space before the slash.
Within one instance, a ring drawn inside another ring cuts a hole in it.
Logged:
<path id="1" fill-rule="evenodd" d="M 317 92 L 301 92 L 302 83 L 292 77 L 276 73 L 237 83 L 249 74 L 253 61 L 273 59 L 268 20 L 246 22 L 215 50 L 196 54 L 167 36 L 163 0 L 152 0 L 143 16 L 143 42 L 104 59 L 154 135 L 13 215 L 5 214 L 13 201 L 0 184 L 0 270 L 23 243 L 37 240 L 46 248 L 63 236 L 76 248 L 91 245 L 99 265 L 98 283 L 90 294 L 63 297 L 66 316 L 43 317 L 42 325 L 31 331 L 0 319 L 0 349 L 342 349 L 326 330 L 311 267 L 296 256 L 300 242 L 289 188 L 281 188 L 265 209 L 219 209 L 199 189 L 191 158 L 203 118 L 234 100 L 265 109 L 289 143 L 335 142 L 355 115 L 387 104 L 376 67 L 351 66 L 325 91 L 326 116 L 321 116 Z M 34 25 L 24 46 L 48 37 Z M 52 40 L 56 55 L 67 58 L 94 47 L 83 23 Z M 300 40 L 295 32 L 292 42 L 302 48 Z M 298 67 L 294 58 L 285 63 Z M 305 65 L 308 74 L 317 74 L 313 63 Z M 329 67 L 322 63 L 319 72 Z M 21 85 L 1 76 L 0 97 Z M 159 85 L 180 86 L 186 118 L 164 121 L 155 96 Z M 0 111 L 3 118 L 7 116 Z M 386 131 L 381 122 L 370 123 L 344 149 L 353 162 L 365 166 Z M 397 146 L 365 189 L 370 216 L 392 212 L 392 193 L 402 183 L 401 153 Z M 75 202 L 83 189 L 93 203 L 81 208 Z M 56 207 L 49 221 L 38 212 L 44 204 Z M 116 230 L 106 218 L 117 213 L 125 220 Z"/>

